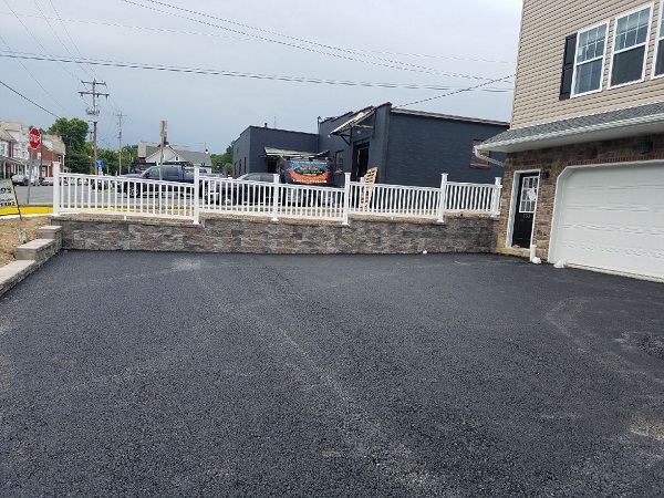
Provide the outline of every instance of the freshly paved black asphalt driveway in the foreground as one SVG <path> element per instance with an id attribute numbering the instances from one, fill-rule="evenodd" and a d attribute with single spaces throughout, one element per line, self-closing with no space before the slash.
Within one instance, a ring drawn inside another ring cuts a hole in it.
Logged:
<path id="1" fill-rule="evenodd" d="M 65 252 L 0 299 L 0 496 L 663 496 L 664 284 Z"/>

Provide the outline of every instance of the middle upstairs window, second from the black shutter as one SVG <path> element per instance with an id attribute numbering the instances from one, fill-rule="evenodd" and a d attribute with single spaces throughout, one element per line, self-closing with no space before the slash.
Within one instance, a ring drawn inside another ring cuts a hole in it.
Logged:
<path id="1" fill-rule="evenodd" d="M 650 23 L 650 7 L 616 19 L 611 86 L 643 81 Z"/>

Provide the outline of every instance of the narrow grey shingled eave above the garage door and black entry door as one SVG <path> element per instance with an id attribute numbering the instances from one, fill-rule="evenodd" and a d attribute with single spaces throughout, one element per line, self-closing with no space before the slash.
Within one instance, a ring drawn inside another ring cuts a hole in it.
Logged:
<path id="1" fill-rule="evenodd" d="M 521 137 L 497 142 L 485 142 L 477 146 L 478 151 L 516 153 L 535 151 L 587 142 L 609 141 L 615 138 L 652 135 L 664 133 L 664 114 L 647 117 L 635 117 L 612 123 L 602 123 L 581 128 L 543 133 L 530 137 Z"/>

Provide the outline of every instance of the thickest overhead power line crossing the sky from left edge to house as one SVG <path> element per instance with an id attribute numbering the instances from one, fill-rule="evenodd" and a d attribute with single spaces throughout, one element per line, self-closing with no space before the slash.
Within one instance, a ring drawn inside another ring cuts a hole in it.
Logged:
<path id="1" fill-rule="evenodd" d="M 34 61 L 60 61 L 60 62 L 71 62 L 75 63 L 77 60 L 64 58 L 64 56 L 50 56 L 43 54 L 32 54 L 32 53 L 6 53 L 0 51 L 0 58 L 10 58 L 10 59 L 27 59 Z M 355 81 L 345 81 L 345 80 L 324 80 L 317 77 L 304 77 L 304 76 L 284 76 L 284 75 L 276 75 L 276 74 L 259 74 L 259 73 L 242 73 L 237 71 L 228 71 L 228 70 L 212 70 L 212 69 L 203 69 L 203 68 L 181 68 L 181 66 L 173 66 L 173 65 L 162 65 L 162 64 L 147 64 L 147 63 L 136 63 L 136 62 L 117 62 L 117 61 L 107 61 L 107 60 L 93 60 L 86 59 L 85 62 L 92 65 L 103 65 L 103 66 L 113 66 L 113 68 L 127 68 L 127 69 L 141 69 L 148 71 L 162 71 L 162 72 L 173 72 L 173 73 L 189 73 L 189 74 L 203 74 L 203 75 L 216 75 L 216 76 L 230 76 L 230 77 L 248 77 L 253 80 L 270 80 L 270 81 L 284 81 L 284 82 L 295 82 L 295 83 L 315 83 L 315 84 L 328 84 L 328 85 L 343 85 L 343 86 L 369 86 L 369 87 L 384 87 L 384 89 L 405 89 L 405 90 L 432 90 L 432 91 L 446 91 L 446 90 L 456 90 L 457 86 L 445 86 L 445 85 L 421 85 L 421 84 L 408 84 L 408 83 L 385 83 L 385 82 L 355 82 Z M 500 82 L 501 80 L 492 80 L 491 82 Z M 494 93 L 504 93 L 511 92 L 512 89 L 488 89 L 488 85 L 491 82 L 484 83 L 481 85 L 477 85 L 475 87 L 480 89 L 485 92 L 494 92 Z M 473 89 L 475 89 L 473 87 Z M 461 89 L 467 91 L 468 89 Z"/>

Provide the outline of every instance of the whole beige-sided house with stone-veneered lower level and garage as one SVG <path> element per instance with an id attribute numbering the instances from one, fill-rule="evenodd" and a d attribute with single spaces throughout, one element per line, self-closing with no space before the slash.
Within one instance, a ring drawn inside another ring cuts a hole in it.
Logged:
<path id="1" fill-rule="evenodd" d="M 497 250 L 664 280 L 663 0 L 525 0 Z"/>

